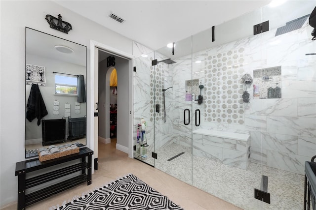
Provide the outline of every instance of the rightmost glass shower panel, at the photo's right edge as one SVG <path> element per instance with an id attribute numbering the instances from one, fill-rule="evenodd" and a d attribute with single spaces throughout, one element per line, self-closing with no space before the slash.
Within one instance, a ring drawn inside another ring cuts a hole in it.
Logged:
<path id="1" fill-rule="evenodd" d="M 261 87 L 276 95 L 256 100 L 262 109 L 253 109 L 264 121 L 262 175 L 269 178 L 271 195 L 271 204 L 263 202 L 262 209 L 303 209 L 304 165 L 316 154 L 316 56 L 306 55 L 316 53 L 308 21 L 315 6 L 315 0 L 293 0 L 262 8 L 270 30 L 261 38 Z M 266 75 L 276 67 L 281 75 Z M 267 77 L 271 82 L 264 86 Z"/>

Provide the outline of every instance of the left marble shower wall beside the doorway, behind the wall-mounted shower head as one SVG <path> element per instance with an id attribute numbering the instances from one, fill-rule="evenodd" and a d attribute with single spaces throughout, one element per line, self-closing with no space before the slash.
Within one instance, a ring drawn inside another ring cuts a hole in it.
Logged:
<path id="1" fill-rule="evenodd" d="M 143 118 L 146 120 L 145 134 L 149 147 L 148 157 L 142 160 L 154 165 L 151 153 L 173 141 L 173 89 L 165 91 L 166 122 L 163 122 L 162 94 L 162 89 L 172 86 L 172 66 L 163 62 L 152 66 L 152 60 L 166 58 L 136 42 L 133 43 L 133 54 L 138 57 L 134 59 L 137 68 L 133 75 L 134 139 L 137 136 L 137 124 Z M 141 56 L 144 54 L 147 57 Z M 160 105 L 159 112 L 156 112 L 156 104 Z"/>

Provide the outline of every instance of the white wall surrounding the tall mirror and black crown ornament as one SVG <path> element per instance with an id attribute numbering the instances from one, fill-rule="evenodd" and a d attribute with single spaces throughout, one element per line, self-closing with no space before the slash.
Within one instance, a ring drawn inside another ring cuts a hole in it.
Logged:
<path id="1" fill-rule="evenodd" d="M 68 34 L 49 28 L 46 14 L 72 24 Z M 15 163 L 25 160 L 25 27 L 40 30 L 88 47 L 89 40 L 132 54 L 132 41 L 101 27 L 52 1 L 0 1 L 0 208 L 17 200 Z M 90 92 L 90 59 L 87 58 L 87 93 Z M 87 127 L 90 127 L 90 100 L 87 95 Z M 127 109 L 128 110 L 128 109 Z M 87 137 L 90 130 L 87 130 Z M 90 145 L 87 140 L 87 146 Z"/>

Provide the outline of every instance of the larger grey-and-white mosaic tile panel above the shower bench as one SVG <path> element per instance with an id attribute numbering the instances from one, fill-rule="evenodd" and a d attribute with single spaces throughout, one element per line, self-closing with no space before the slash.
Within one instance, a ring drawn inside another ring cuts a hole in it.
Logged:
<path id="1" fill-rule="evenodd" d="M 205 61 L 205 121 L 243 124 L 244 48 L 208 56 Z"/>

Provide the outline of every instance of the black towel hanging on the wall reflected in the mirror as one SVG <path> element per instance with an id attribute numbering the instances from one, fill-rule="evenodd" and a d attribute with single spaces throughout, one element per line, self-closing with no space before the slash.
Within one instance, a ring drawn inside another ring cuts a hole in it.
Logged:
<path id="1" fill-rule="evenodd" d="M 32 122 L 32 120 L 37 118 L 38 125 L 40 125 L 40 120 L 48 114 L 38 85 L 32 85 L 27 109 L 28 110 L 26 111 L 26 119 Z"/>

